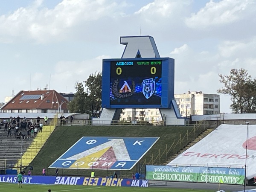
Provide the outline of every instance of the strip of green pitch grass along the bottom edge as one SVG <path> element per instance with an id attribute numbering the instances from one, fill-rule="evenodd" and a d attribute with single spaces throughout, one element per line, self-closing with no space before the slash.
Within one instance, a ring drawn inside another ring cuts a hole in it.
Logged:
<path id="1" fill-rule="evenodd" d="M 17 183 L 0 183 L 0 192 L 215 192 L 198 189 L 171 189 L 164 187 L 106 187 L 106 186 L 73 186 L 73 185 L 34 185 Z"/>

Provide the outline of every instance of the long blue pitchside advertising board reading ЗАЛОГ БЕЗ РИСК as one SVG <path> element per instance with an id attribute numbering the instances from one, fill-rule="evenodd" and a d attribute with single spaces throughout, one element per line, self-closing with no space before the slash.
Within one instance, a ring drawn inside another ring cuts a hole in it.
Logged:
<path id="1" fill-rule="evenodd" d="M 0 175 L 0 183 L 17 183 L 16 175 Z M 23 176 L 26 184 L 148 187 L 148 180 L 92 177 Z"/>

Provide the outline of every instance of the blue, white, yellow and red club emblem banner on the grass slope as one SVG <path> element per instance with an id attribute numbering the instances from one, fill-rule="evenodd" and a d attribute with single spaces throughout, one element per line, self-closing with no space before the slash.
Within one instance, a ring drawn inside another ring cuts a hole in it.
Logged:
<path id="1" fill-rule="evenodd" d="M 49 168 L 130 170 L 158 139 L 159 137 L 82 137 Z"/>

